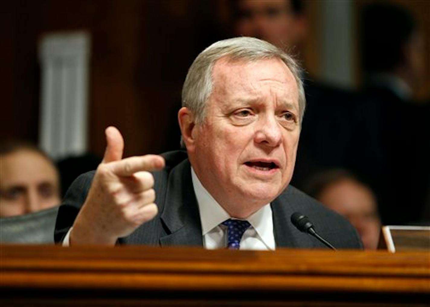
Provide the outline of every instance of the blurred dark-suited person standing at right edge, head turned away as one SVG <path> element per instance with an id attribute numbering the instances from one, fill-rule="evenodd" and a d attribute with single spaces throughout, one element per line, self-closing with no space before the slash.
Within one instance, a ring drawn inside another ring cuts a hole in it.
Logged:
<path id="1" fill-rule="evenodd" d="M 413 97 L 424 82 L 424 36 L 412 13 L 392 3 L 364 6 L 360 24 L 363 109 L 377 152 L 371 160 L 376 173 L 367 178 L 385 225 L 424 222 L 426 201 L 430 206 L 430 104 Z"/>

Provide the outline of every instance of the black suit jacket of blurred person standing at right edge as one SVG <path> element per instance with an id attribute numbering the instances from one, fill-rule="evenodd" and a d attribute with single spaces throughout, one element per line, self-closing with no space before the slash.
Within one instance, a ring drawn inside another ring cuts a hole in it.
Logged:
<path id="1" fill-rule="evenodd" d="M 380 153 L 369 183 L 378 196 L 382 223 L 424 222 L 430 196 L 430 105 L 404 100 L 383 84 L 369 84 L 364 95 L 370 137 Z"/>

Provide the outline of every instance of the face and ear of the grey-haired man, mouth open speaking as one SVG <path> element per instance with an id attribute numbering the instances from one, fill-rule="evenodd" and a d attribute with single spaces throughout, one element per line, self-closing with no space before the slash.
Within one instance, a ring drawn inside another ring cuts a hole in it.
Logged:
<path id="1" fill-rule="evenodd" d="M 300 134 L 297 83 L 279 59 L 221 58 L 212 76 L 190 160 L 215 200 L 244 218 L 273 201 L 292 177 Z"/>

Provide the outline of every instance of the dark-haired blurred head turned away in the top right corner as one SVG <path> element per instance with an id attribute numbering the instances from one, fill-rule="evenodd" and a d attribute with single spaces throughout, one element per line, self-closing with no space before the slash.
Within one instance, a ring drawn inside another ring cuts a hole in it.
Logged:
<path id="1" fill-rule="evenodd" d="M 411 101 L 425 67 L 424 36 L 412 13 L 392 3 L 368 4 L 361 38 L 365 87 L 381 99 Z"/>

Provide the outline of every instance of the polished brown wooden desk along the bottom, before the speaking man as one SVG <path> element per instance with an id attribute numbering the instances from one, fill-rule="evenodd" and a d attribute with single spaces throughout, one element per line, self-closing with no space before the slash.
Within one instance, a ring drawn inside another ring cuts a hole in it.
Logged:
<path id="1" fill-rule="evenodd" d="M 428 306 L 428 252 L 0 246 L 1 306 Z"/>

